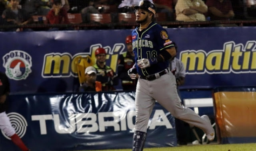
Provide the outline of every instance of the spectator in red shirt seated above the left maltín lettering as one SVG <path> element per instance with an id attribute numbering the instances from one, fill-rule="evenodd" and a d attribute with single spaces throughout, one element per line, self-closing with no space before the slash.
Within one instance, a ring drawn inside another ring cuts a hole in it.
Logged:
<path id="1" fill-rule="evenodd" d="M 70 24 L 67 11 L 61 6 L 61 0 L 54 0 L 46 18 L 49 24 Z"/>

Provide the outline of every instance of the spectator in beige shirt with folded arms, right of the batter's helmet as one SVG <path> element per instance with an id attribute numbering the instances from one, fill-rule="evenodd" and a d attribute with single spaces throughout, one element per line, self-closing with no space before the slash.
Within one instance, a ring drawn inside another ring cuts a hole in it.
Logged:
<path id="1" fill-rule="evenodd" d="M 176 20 L 184 22 L 205 21 L 208 10 L 202 0 L 178 0 L 175 6 Z"/>

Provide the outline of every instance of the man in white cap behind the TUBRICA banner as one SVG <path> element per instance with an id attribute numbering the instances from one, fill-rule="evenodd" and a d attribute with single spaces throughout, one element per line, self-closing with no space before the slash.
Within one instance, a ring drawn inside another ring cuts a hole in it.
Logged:
<path id="1" fill-rule="evenodd" d="M 89 66 L 85 69 L 85 78 L 86 81 L 79 88 L 79 92 L 88 92 L 88 91 L 102 91 L 102 84 L 99 81 L 96 81 L 96 69 L 92 66 Z"/>

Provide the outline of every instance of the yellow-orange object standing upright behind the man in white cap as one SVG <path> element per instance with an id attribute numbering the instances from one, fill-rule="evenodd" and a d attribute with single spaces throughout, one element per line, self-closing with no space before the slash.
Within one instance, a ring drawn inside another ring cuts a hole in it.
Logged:
<path id="1" fill-rule="evenodd" d="M 92 66 L 92 59 L 89 55 L 77 57 L 75 65 L 77 68 L 79 83 L 82 85 L 86 81 L 84 71 L 87 67 Z"/>

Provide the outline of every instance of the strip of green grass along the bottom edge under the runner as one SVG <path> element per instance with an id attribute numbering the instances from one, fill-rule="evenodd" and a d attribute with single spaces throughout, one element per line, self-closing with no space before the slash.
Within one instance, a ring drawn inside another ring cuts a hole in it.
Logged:
<path id="1" fill-rule="evenodd" d="M 131 151 L 132 149 L 113 149 L 101 151 Z M 94 150 L 96 151 L 96 150 Z M 256 151 L 256 143 L 187 145 L 178 147 L 144 148 L 143 151 Z"/>

